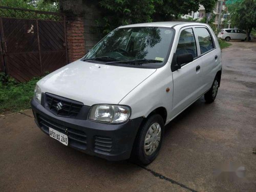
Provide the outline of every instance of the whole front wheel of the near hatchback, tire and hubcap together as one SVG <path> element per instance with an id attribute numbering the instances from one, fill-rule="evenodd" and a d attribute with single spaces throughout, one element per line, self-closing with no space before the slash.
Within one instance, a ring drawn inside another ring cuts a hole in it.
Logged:
<path id="1" fill-rule="evenodd" d="M 131 160 L 139 165 L 147 165 L 154 161 L 159 153 L 163 140 L 163 118 L 154 114 L 141 125 L 134 142 Z"/>

